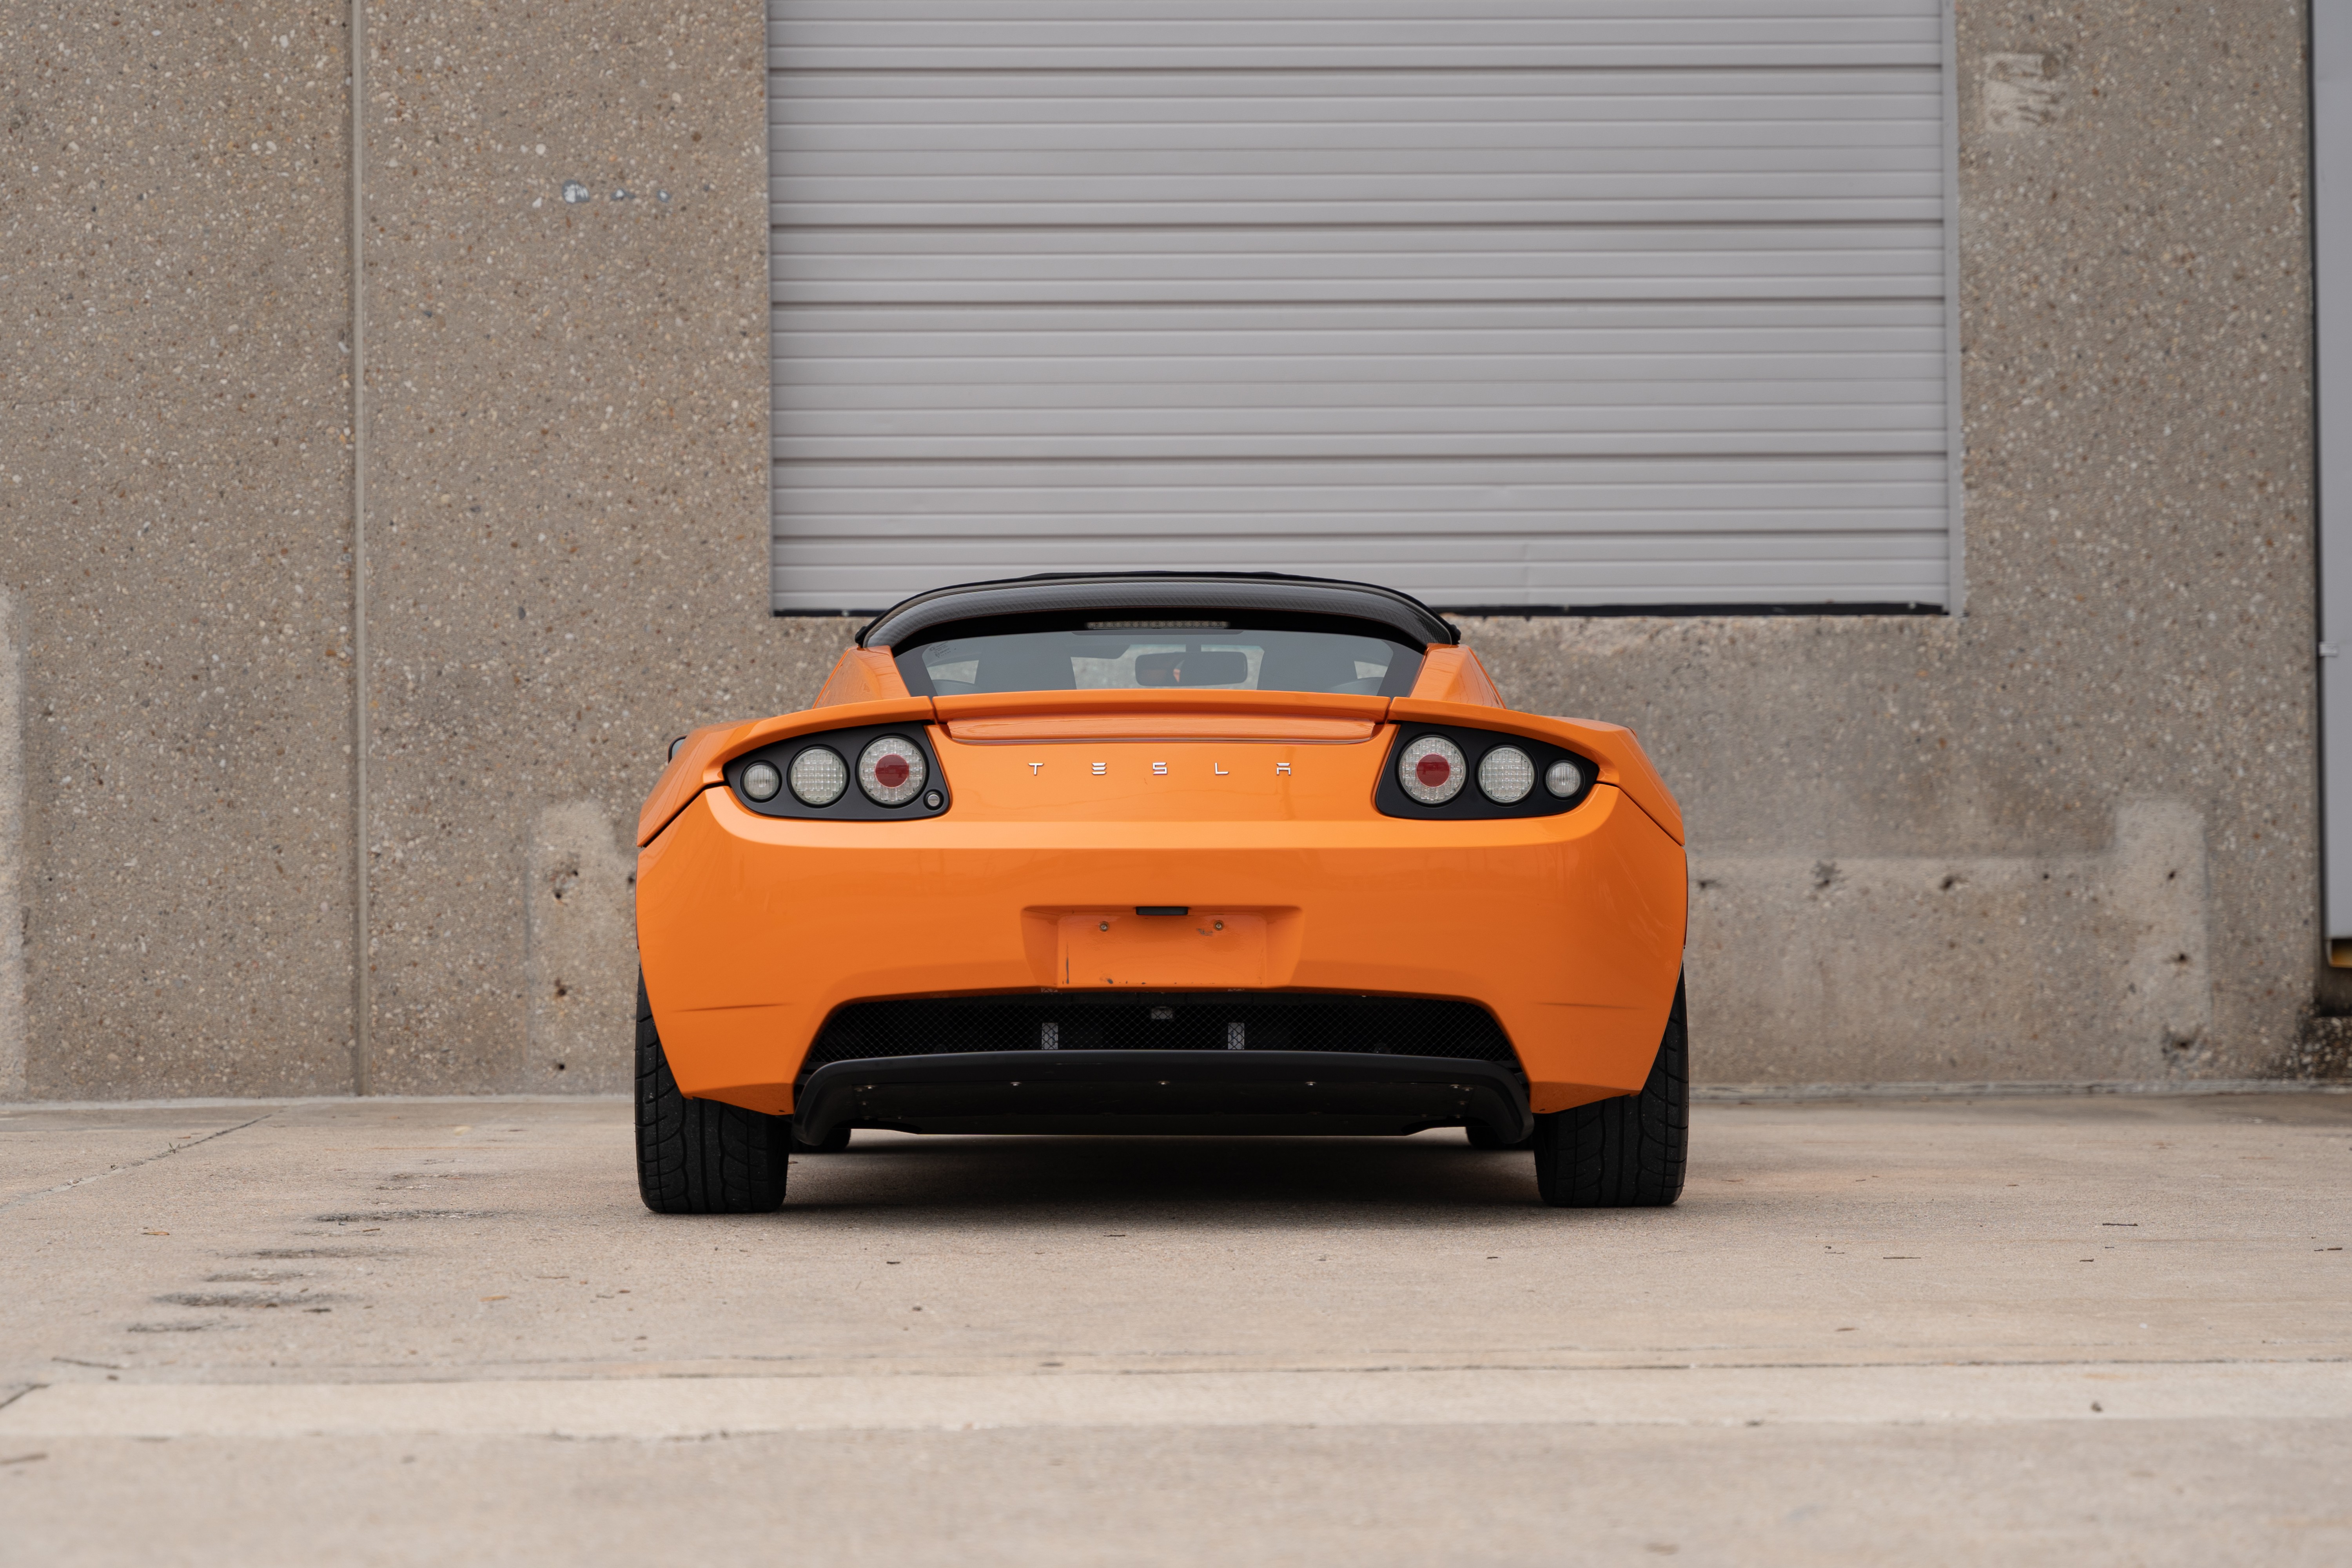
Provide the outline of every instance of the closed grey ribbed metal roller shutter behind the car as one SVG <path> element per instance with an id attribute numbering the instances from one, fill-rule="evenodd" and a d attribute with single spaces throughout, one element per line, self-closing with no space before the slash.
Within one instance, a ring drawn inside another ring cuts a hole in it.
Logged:
<path id="1" fill-rule="evenodd" d="M 771 0 L 774 604 L 1952 604 L 1938 0 Z"/>

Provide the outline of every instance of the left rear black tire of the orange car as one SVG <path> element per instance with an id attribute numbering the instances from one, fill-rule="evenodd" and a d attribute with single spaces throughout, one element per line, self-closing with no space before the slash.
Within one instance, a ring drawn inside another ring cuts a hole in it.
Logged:
<path id="1" fill-rule="evenodd" d="M 677 1093 L 637 973 L 637 1192 L 654 1213 L 774 1213 L 793 1119 Z"/>

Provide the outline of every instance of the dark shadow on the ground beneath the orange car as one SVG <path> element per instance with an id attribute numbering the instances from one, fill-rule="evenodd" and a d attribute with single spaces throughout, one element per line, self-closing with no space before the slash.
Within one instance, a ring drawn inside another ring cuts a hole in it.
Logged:
<path id="1" fill-rule="evenodd" d="M 1428 1138 L 887 1138 L 793 1159 L 786 1211 L 1494 1211 L 1536 1204 L 1526 1150 Z"/>

